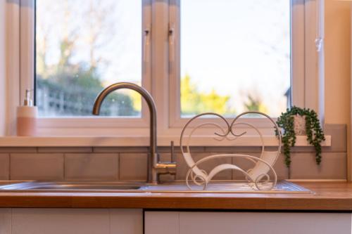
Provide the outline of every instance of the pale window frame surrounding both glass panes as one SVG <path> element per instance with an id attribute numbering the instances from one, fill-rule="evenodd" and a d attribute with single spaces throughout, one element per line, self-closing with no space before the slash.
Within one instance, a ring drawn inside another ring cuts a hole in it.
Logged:
<path id="1" fill-rule="evenodd" d="M 180 0 L 142 0 L 143 28 L 150 29 L 150 51 L 143 64 L 146 78 L 142 85 L 151 92 L 158 110 L 159 136 L 178 136 L 187 119 L 180 117 L 180 62 L 170 58 L 170 50 L 175 58 L 180 58 Z M 25 89 L 34 88 L 34 0 L 11 1 L 11 30 L 8 34 L 7 60 L 11 79 L 8 100 L 8 135 L 15 135 L 15 108 L 23 100 Z M 293 104 L 302 108 L 316 110 L 324 118 L 324 53 L 316 51 L 315 39 L 323 39 L 324 0 L 291 0 L 291 30 L 295 35 L 291 40 L 291 84 Z M 175 33 L 174 47 L 170 45 L 170 28 Z M 142 45 L 144 42 L 141 42 Z M 323 43 L 323 40 L 322 40 Z M 178 47 L 177 47 L 178 46 Z M 323 44 L 322 44 L 323 46 Z M 178 55 L 177 55 L 178 53 Z M 168 79 L 166 79 L 167 77 Z M 163 101 L 167 100 L 167 101 Z M 42 136 L 148 136 L 149 113 L 145 103 L 142 106 L 142 118 L 115 117 L 60 117 L 39 118 L 39 135 Z M 262 129 L 271 126 L 262 119 L 249 119 L 251 124 Z M 94 127 L 92 127 L 94 126 Z"/>

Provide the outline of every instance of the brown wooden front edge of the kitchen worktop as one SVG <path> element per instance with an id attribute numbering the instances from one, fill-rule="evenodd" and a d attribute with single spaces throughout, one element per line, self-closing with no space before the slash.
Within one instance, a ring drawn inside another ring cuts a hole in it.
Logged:
<path id="1" fill-rule="evenodd" d="M 1 208 L 232 209 L 352 211 L 352 198 L 1 195 Z"/>

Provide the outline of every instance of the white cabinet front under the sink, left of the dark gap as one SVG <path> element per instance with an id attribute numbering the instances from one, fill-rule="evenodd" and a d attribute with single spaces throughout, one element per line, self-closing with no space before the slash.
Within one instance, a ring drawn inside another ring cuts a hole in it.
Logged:
<path id="1" fill-rule="evenodd" d="M 142 209 L 0 209 L 0 234 L 142 234 Z"/>

